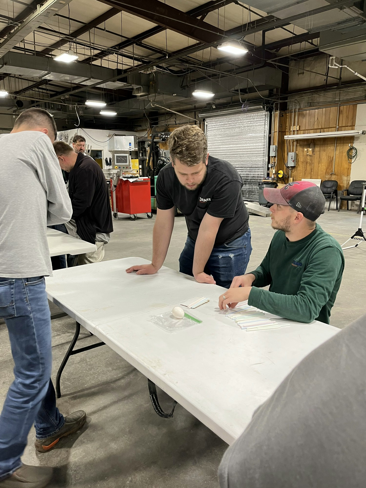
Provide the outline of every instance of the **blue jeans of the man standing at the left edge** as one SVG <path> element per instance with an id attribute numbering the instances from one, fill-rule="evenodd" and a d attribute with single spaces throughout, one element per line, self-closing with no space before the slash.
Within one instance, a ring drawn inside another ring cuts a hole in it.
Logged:
<path id="1" fill-rule="evenodd" d="M 43 276 L 0 278 L 0 318 L 8 328 L 15 380 L 0 415 L 0 480 L 21 466 L 35 423 L 36 436 L 56 433 L 64 418 L 51 382 L 51 318 Z"/>

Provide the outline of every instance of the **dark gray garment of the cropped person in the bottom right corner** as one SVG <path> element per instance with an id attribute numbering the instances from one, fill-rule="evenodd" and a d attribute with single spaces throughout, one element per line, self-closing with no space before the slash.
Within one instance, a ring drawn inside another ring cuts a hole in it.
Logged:
<path id="1" fill-rule="evenodd" d="M 366 486 L 366 315 L 311 352 L 224 454 L 222 488 Z"/>

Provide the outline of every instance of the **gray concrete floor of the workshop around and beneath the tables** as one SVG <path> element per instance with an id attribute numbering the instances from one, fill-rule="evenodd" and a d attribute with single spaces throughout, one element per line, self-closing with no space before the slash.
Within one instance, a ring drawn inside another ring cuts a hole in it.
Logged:
<path id="1" fill-rule="evenodd" d="M 354 211 L 325 212 L 319 223 L 341 244 L 353 234 L 360 216 Z M 129 256 L 151 258 L 155 217 L 127 217 L 114 221 L 105 259 Z M 270 219 L 250 216 L 253 251 L 248 271 L 260 264 L 273 236 Z M 365 225 L 366 228 L 366 218 Z M 176 217 L 172 242 L 165 265 L 178 269 L 178 257 L 186 236 L 185 221 Z M 364 313 L 366 245 L 345 251 L 346 269 L 332 310 L 331 324 L 344 327 Z M 130 297 L 138 299 L 139 297 Z M 51 304 L 52 312 L 57 310 Z M 52 322 L 54 371 L 61 363 L 75 330 L 75 322 L 64 317 Z M 79 346 L 96 342 L 82 329 Z M 6 327 L 0 323 L 0 405 L 13 379 Z M 154 412 L 146 378 L 108 347 L 99 347 L 72 356 L 61 380 L 61 412 L 87 412 L 87 425 L 61 440 L 47 454 L 36 453 L 31 430 L 23 462 L 57 467 L 51 487 L 78 488 L 202 488 L 218 487 L 217 468 L 227 447 L 224 441 L 177 405 L 173 419 Z M 218 392 L 220 394 L 220 392 Z M 160 392 L 162 405 L 171 399 Z"/>

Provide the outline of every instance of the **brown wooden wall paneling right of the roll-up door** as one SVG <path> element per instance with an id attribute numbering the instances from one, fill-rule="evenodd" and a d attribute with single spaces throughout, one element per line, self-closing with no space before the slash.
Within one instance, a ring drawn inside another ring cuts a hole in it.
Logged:
<path id="1" fill-rule="evenodd" d="M 338 130 L 353 130 L 356 122 L 357 105 L 343 105 L 339 107 Z M 337 130 L 338 107 L 325 107 L 301 110 L 298 112 L 297 125 L 298 134 L 311 132 L 330 132 Z M 292 120 L 296 122 L 296 115 L 293 118 L 289 112 L 280 114 L 280 130 L 277 142 L 277 114 L 274 117 L 275 133 L 274 144 L 277 143 L 277 171 L 282 169 L 289 174 L 285 167 L 287 163 L 287 152 L 297 152 L 297 164 L 291 171 L 293 181 L 302 178 L 312 178 L 338 181 L 338 189 L 343 190 L 349 185 L 351 165 L 348 163 L 346 152 L 349 144 L 353 144 L 352 137 L 307 139 L 297 141 L 285 141 L 284 136 L 291 133 Z M 335 147 L 335 158 L 334 158 Z M 334 161 L 334 174 L 333 174 Z"/>

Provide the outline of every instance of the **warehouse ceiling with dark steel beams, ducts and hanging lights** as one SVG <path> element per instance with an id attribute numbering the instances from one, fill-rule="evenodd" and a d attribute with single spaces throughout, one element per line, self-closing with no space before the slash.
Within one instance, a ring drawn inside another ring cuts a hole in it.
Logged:
<path id="1" fill-rule="evenodd" d="M 293 70 L 342 88 L 339 72 L 305 61 L 365 61 L 365 3 L 5 0 L 0 111 L 16 116 L 41 106 L 62 128 L 77 120 L 104 127 L 99 111 L 85 106 L 95 99 L 117 111 L 108 123 L 133 128 L 207 107 L 285 103 Z"/>

